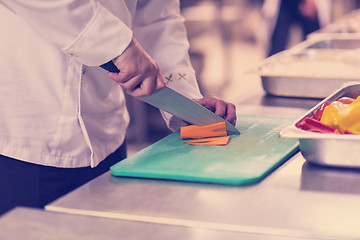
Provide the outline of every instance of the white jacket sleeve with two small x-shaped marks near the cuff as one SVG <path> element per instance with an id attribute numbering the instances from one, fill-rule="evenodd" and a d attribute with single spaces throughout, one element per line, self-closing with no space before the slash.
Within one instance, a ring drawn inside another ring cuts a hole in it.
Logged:
<path id="1" fill-rule="evenodd" d="M 190 62 L 189 41 L 178 0 L 140 0 L 133 32 L 159 64 L 168 87 L 190 99 L 202 97 Z M 170 129 L 184 125 L 167 113 L 162 115 Z"/>

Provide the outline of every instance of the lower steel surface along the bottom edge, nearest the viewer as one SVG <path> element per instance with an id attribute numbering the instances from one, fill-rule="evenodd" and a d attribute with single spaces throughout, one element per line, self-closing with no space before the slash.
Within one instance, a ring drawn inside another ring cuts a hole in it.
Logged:
<path id="1" fill-rule="evenodd" d="M 0 218 L 0 239 L 6 240 L 289 240 L 262 234 L 246 234 L 195 227 L 125 221 L 17 208 Z M 302 239 L 300 239 L 302 240 Z"/>

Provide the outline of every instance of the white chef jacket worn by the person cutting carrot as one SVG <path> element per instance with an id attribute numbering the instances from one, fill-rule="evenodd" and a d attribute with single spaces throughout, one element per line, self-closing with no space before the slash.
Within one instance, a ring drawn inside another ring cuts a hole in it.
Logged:
<path id="1" fill-rule="evenodd" d="M 98 66 L 133 35 L 169 87 L 200 98 L 179 12 L 178 0 L 0 0 L 0 154 L 95 167 L 116 150 L 129 115 Z"/>

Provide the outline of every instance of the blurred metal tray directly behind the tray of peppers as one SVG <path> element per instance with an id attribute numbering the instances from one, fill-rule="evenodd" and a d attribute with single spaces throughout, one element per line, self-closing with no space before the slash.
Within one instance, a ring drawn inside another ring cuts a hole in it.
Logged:
<path id="1" fill-rule="evenodd" d="M 275 96 L 325 98 L 360 80 L 360 37 L 319 36 L 259 65 L 264 90 Z"/>

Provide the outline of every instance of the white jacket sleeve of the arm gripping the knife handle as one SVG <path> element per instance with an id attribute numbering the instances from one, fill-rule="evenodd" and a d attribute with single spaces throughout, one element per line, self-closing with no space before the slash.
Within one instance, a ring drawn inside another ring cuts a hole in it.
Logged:
<path id="1" fill-rule="evenodd" d="M 0 4 L 85 65 L 108 62 L 131 41 L 130 28 L 96 1 L 0 0 Z"/>

